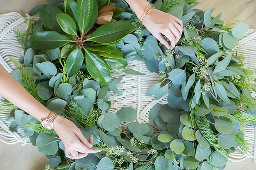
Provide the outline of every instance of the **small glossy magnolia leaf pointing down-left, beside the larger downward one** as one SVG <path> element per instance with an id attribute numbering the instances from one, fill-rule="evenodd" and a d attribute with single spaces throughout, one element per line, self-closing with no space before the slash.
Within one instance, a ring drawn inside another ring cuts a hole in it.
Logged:
<path id="1" fill-rule="evenodd" d="M 84 55 L 81 49 L 72 51 L 66 60 L 66 73 L 69 77 L 74 76 L 81 68 L 84 61 Z"/>

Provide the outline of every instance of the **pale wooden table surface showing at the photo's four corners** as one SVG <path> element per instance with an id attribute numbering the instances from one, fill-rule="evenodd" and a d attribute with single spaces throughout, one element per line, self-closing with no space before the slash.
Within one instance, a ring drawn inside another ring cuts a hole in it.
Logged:
<path id="1" fill-rule="evenodd" d="M 238 21 L 247 23 L 256 29 L 256 0 L 198 0 L 195 8 L 206 11 L 215 8 L 212 15 L 222 13 L 221 20 L 226 23 Z M 26 14 L 34 6 L 46 3 L 46 0 L 0 0 L 0 14 L 11 11 Z M 19 144 L 8 145 L 0 142 L 0 170 L 43 170 L 47 158 L 31 144 L 21 147 Z M 225 170 L 256 170 L 256 164 L 250 159 L 240 163 L 228 162 Z"/>

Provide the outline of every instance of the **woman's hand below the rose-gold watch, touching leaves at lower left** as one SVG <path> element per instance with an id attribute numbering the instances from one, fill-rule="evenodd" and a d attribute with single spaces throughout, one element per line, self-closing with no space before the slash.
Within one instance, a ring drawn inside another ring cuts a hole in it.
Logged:
<path id="1" fill-rule="evenodd" d="M 65 156 L 70 159 L 80 159 L 88 153 L 98 153 L 101 150 L 91 149 L 93 147 L 93 136 L 89 141 L 81 133 L 81 130 L 70 120 L 57 116 L 54 121 L 54 130 L 60 137 L 65 147 Z"/>

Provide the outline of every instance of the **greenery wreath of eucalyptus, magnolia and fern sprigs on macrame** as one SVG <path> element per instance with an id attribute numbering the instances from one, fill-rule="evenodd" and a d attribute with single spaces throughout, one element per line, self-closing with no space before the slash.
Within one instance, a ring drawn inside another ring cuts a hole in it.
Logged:
<path id="1" fill-rule="evenodd" d="M 222 170 L 234 147 L 247 151 L 243 126 L 256 122 L 250 115 L 256 108 L 250 95 L 255 73 L 242 68 L 244 57 L 231 50 L 249 27 L 224 24 L 211 9 L 194 9 L 197 0 L 150 1 L 183 21 L 175 48 L 159 44 L 124 0 L 49 0 L 29 13 L 40 20 L 17 32 L 26 53 L 19 62 L 11 58 L 17 66 L 12 76 L 84 136 L 93 134 L 94 148 L 103 150 L 68 159 L 54 130 L 15 108 L 10 130 L 23 126 L 49 158 L 44 170 Z M 160 133 L 136 122 L 133 108 L 106 113 L 111 91 L 119 93 L 120 79 L 111 81 L 110 69 L 125 68 L 132 59 L 161 75 L 147 92 L 156 99 L 168 94 L 168 105 L 149 113 Z"/>

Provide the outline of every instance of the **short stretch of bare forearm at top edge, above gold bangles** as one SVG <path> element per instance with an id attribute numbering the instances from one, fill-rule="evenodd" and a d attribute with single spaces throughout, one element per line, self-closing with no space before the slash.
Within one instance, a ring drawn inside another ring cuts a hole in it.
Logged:
<path id="1" fill-rule="evenodd" d="M 138 18 L 140 18 L 144 10 L 150 5 L 147 0 L 125 0 L 134 10 Z"/>

